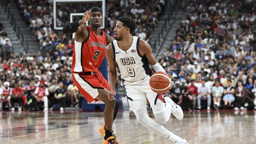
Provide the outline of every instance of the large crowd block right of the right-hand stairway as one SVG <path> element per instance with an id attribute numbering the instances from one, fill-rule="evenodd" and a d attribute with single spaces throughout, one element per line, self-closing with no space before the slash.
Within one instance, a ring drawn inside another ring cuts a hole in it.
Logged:
<path id="1" fill-rule="evenodd" d="M 191 0 L 159 63 L 184 110 L 256 109 L 256 1 Z M 203 100 L 203 101 L 202 101 Z"/>

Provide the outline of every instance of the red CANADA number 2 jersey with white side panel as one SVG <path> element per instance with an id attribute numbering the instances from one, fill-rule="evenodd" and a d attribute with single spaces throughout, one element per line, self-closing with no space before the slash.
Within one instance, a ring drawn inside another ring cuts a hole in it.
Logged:
<path id="1" fill-rule="evenodd" d="M 98 37 L 88 28 L 88 37 L 84 42 L 74 42 L 72 72 L 97 71 L 104 57 L 107 47 L 106 33 Z"/>

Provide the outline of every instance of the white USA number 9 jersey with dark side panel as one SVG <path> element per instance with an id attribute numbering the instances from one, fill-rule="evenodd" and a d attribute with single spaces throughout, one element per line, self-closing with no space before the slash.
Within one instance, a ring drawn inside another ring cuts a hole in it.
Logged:
<path id="1" fill-rule="evenodd" d="M 139 37 L 133 37 L 132 46 L 124 51 L 118 47 L 117 41 L 112 41 L 114 60 L 116 61 L 121 78 L 125 81 L 138 81 L 153 72 L 149 69 L 148 59 L 139 53 Z"/>

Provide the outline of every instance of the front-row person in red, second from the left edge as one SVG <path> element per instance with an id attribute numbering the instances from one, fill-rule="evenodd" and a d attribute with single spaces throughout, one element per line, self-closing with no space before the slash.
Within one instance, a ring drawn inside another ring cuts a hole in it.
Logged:
<path id="1" fill-rule="evenodd" d="M 22 95 L 23 95 L 23 90 L 20 88 L 20 86 L 17 83 L 15 83 L 15 87 L 14 89 L 12 89 L 12 97 L 11 97 L 12 111 L 15 111 L 15 108 L 14 108 L 15 103 L 18 104 L 18 111 L 21 111 Z"/>

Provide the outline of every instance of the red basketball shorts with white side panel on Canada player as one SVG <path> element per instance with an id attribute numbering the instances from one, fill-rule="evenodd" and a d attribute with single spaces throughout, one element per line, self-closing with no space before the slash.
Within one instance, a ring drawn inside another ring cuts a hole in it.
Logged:
<path id="1" fill-rule="evenodd" d="M 85 99 L 91 103 L 93 100 L 98 101 L 96 97 L 99 95 L 98 89 L 104 89 L 110 91 L 110 85 L 103 77 L 99 70 L 93 75 L 72 74 L 73 82 L 78 90 L 85 97 Z"/>

